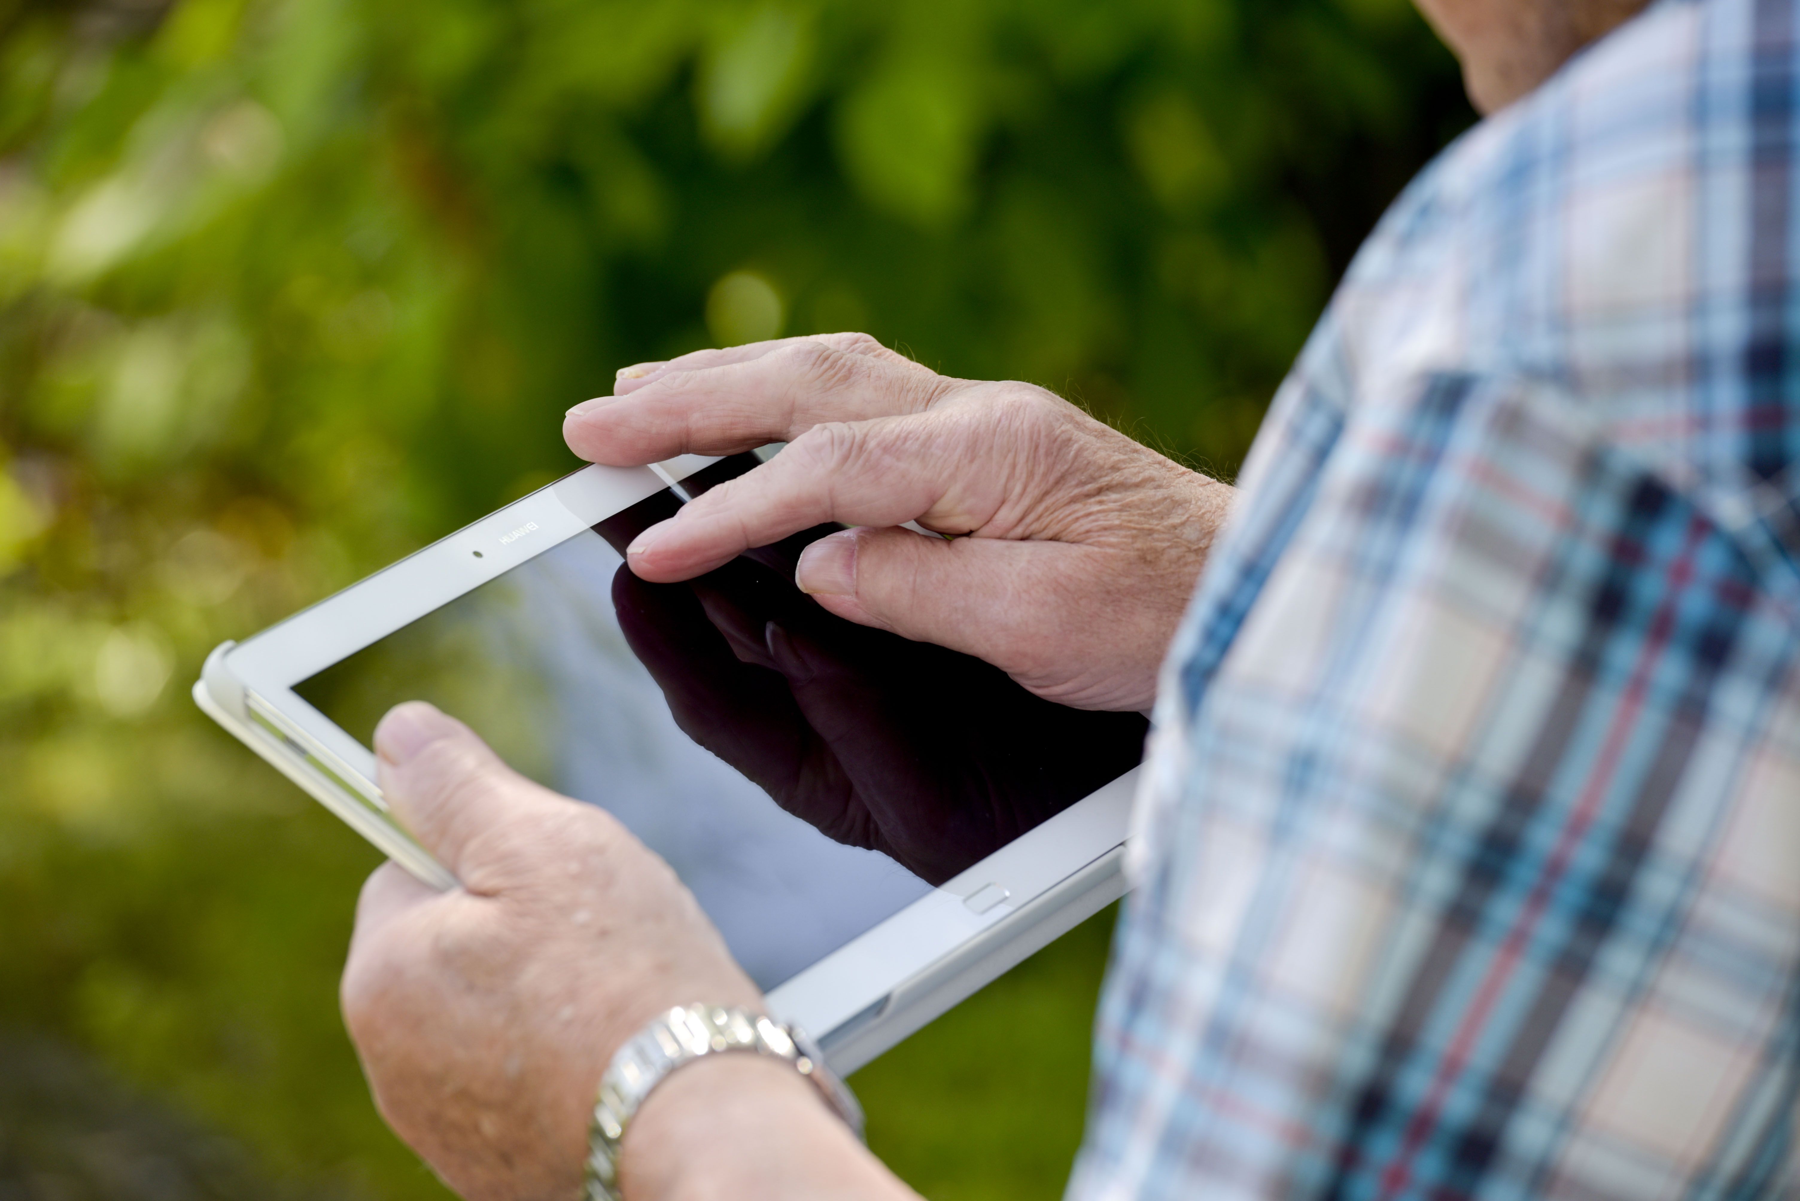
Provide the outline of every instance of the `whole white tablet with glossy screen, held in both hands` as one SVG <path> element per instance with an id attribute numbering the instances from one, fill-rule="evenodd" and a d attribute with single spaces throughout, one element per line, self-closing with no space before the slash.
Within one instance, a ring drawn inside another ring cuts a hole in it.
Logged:
<path id="1" fill-rule="evenodd" d="M 776 1016 L 851 1072 L 1121 892 L 1138 714 L 1051 705 L 792 584 L 826 529 L 684 584 L 623 548 L 758 464 L 585 467 L 207 660 L 194 699 L 419 879 L 369 750 L 427 699 L 614 813 Z"/>

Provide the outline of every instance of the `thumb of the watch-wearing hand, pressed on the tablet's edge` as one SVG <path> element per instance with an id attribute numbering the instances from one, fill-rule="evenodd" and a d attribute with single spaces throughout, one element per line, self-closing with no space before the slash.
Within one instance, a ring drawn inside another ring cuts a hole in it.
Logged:
<path id="1" fill-rule="evenodd" d="M 394 818 L 464 886 L 479 876 L 482 836 L 545 804 L 473 730 L 425 701 L 387 710 L 374 755 Z"/>

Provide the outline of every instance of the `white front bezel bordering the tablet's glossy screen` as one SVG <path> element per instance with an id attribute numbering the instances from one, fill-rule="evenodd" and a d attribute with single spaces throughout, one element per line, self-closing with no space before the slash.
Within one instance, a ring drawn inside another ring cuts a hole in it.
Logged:
<path id="1" fill-rule="evenodd" d="M 655 467 L 589 466 L 563 476 L 243 644 L 221 647 L 196 698 L 205 690 L 214 719 L 290 777 L 308 777 L 308 791 L 394 854 L 365 822 L 328 800 L 329 791 L 342 791 L 347 804 L 385 811 L 374 755 L 293 685 L 711 462 L 688 455 Z M 821 1037 L 880 1018 L 896 989 L 931 976 L 959 947 L 986 942 L 1008 917 L 1114 852 L 1125 841 L 1136 775 L 1118 777 L 774 987 L 770 1010 Z M 400 850 L 394 858 L 409 870 L 430 876 L 436 865 L 428 858 L 407 863 L 407 849 Z"/>

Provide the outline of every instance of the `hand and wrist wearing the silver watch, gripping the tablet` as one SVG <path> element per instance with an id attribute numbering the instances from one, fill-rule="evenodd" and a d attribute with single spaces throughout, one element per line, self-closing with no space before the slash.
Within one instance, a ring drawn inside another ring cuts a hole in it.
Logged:
<path id="1" fill-rule="evenodd" d="M 391 712 L 376 752 L 394 813 L 463 881 L 439 894 L 389 863 L 364 888 L 342 1001 L 376 1104 L 464 1197 L 569 1201 L 625 1039 L 673 1005 L 761 996 L 605 811 L 515 775 L 430 705 Z M 619 1167 L 632 1201 L 909 1196 L 799 1073 L 749 1055 L 671 1075 Z"/>

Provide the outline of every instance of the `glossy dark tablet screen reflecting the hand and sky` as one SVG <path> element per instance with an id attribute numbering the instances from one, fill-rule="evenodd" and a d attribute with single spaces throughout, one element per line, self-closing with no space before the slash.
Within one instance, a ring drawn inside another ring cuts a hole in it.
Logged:
<path id="1" fill-rule="evenodd" d="M 693 494 L 756 466 L 733 457 Z M 623 548 L 664 491 L 295 685 L 369 744 L 427 699 L 661 854 L 761 989 L 1129 771 L 1136 714 L 844 622 L 794 588 L 817 529 L 684 584 Z"/>

